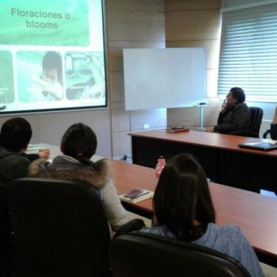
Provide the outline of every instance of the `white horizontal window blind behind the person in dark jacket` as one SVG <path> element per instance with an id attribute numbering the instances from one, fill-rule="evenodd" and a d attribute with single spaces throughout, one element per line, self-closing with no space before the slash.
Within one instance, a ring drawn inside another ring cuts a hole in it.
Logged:
<path id="1" fill-rule="evenodd" d="M 223 13 L 218 95 L 242 87 L 246 100 L 277 101 L 277 4 Z"/>

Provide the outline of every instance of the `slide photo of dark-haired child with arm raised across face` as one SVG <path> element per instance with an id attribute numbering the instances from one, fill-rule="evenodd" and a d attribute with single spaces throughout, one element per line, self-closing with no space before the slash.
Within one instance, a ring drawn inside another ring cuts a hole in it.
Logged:
<path id="1" fill-rule="evenodd" d="M 20 102 L 63 99 L 62 57 L 55 51 L 17 52 L 17 81 Z"/>

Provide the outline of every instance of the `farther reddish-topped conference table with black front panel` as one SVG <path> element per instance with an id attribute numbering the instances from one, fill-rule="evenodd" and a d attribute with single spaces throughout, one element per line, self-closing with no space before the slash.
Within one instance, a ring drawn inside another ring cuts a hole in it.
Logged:
<path id="1" fill-rule="evenodd" d="M 192 130 L 168 133 L 164 129 L 129 135 L 134 164 L 155 168 L 159 156 L 168 159 L 178 153 L 190 153 L 202 165 L 207 177 L 216 183 L 255 192 L 277 191 L 277 150 L 238 146 L 246 142 L 269 142 L 269 139 Z"/>

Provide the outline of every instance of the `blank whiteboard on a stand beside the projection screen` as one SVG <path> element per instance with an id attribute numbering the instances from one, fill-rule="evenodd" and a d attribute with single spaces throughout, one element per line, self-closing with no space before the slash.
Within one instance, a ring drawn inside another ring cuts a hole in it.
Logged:
<path id="1" fill-rule="evenodd" d="M 207 101 L 204 48 L 123 49 L 125 110 Z"/>

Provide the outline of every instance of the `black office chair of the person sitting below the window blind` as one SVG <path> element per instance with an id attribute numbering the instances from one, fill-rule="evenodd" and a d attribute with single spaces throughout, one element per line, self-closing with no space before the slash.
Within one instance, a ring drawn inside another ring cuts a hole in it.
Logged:
<path id="1" fill-rule="evenodd" d="M 235 131 L 230 135 L 259 138 L 260 124 L 263 116 L 263 110 L 258 107 L 249 107 L 251 111 L 251 124 L 247 131 Z"/>

